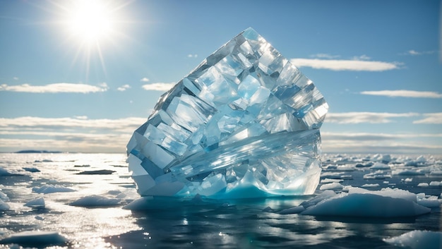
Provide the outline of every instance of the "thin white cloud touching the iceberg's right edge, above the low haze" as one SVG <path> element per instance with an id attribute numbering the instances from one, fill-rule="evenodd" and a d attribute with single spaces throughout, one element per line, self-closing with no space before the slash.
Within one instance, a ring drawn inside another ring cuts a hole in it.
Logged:
<path id="1" fill-rule="evenodd" d="M 328 123 L 391 123 L 395 118 L 407 118 L 419 116 L 417 113 L 394 114 L 388 112 L 343 112 L 328 113 L 326 122 Z"/>

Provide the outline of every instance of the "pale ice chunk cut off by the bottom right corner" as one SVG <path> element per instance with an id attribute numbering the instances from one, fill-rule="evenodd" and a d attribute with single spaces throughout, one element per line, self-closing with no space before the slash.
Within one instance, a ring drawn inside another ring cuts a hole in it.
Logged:
<path id="1" fill-rule="evenodd" d="M 441 231 L 414 230 L 392 238 L 384 238 L 386 243 L 411 249 L 439 249 L 442 245 Z"/>

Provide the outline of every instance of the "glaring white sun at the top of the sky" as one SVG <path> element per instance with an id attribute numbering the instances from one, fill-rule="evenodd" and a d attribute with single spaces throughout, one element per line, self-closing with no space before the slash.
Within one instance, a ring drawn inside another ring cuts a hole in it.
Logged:
<path id="1" fill-rule="evenodd" d="M 106 72 L 106 53 L 115 53 L 131 39 L 128 32 L 133 20 L 128 18 L 127 6 L 133 0 L 49 0 L 49 13 L 54 15 L 56 34 L 71 67 L 78 64 L 90 71 Z"/>

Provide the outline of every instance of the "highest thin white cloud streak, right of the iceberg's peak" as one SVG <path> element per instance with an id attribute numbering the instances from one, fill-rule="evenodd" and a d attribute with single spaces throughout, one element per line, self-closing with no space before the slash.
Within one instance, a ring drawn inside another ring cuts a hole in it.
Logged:
<path id="1" fill-rule="evenodd" d="M 359 58 L 360 59 L 360 58 Z M 361 60 L 331 60 L 331 59 L 291 59 L 290 62 L 297 67 L 311 67 L 333 71 L 388 71 L 400 68 L 402 63 L 384 61 Z"/>

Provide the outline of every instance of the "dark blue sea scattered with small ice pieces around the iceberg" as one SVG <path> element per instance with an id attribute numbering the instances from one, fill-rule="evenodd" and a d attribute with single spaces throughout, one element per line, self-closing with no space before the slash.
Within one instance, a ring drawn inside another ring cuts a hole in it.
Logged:
<path id="1" fill-rule="evenodd" d="M 124 206 L 140 196 L 125 154 L 2 153 L 0 248 L 401 248 L 400 240 L 388 243 L 388 238 L 441 231 L 441 159 L 323 154 L 314 195 L 155 198 L 145 209 L 131 210 Z M 325 191 L 345 193 L 350 186 L 407 190 L 431 212 L 400 218 L 281 213 Z M 419 245 L 441 248 L 438 238 Z"/>

